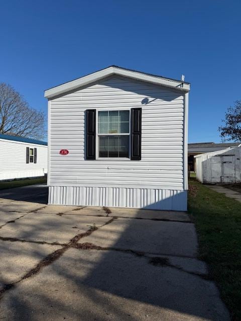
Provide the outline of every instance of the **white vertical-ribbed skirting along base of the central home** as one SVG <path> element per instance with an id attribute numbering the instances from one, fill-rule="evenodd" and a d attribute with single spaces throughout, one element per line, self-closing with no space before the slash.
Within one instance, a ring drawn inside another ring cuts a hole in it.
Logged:
<path id="1" fill-rule="evenodd" d="M 49 204 L 186 211 L 187 191 L 50 186 Z"/>

